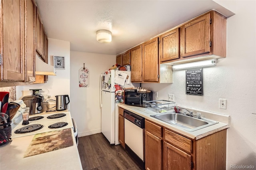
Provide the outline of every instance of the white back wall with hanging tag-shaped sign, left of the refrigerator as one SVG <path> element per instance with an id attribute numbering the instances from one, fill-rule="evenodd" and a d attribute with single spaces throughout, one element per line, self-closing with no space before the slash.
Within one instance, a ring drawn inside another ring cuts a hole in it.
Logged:
<path id="1" fill-rule="evenodd" d="M 70 51 L 70 112 L 78 136 L 101 132 L 100 74 L 116 63 L 115 55 Z M 89 87 L 79 87 L 79 69 L 87 67 Z"/>

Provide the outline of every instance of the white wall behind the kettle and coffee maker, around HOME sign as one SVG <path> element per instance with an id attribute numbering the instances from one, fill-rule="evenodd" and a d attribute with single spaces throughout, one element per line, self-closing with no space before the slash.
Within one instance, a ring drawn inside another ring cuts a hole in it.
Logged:
<path id="1" fill-rule="evenodd" d="M 17 99 L 31 95 L 29 89 L 43 89 L 41 93 L 47 94 L 51 99 L 55 95 L 70 95 L 70 42 L 48 38 L 48 64 L 53 65 L 53 55 L 65 56 L 65 69 L 56 69 L 57 75 L 49 75 L 47 83 L 25 85 L 16 87 Z"/>

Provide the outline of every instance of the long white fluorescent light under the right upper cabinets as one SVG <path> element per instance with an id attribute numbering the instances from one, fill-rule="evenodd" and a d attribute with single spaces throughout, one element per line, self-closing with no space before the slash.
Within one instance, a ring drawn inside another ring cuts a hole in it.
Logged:
<path id="1" fill-rule="evenodd" d="M 179 69 L 194 69 L 198 67 L 211 67 L 217 65 L 217 59 L 210 59 L 206 61 L 197 61 L 193 63 L 186 63 L 186 64 L 177 64 L 173 65 L 172 68 L 174 70 L 179 70 Z"/>

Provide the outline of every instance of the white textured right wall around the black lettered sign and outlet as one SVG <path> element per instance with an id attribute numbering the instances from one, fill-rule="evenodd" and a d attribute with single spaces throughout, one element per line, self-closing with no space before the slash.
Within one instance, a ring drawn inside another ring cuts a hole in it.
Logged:
<path id="1" fill-rule="evenodd" d="M 224 4 L 236 13 L 227 20 L 227 57 L 218 59 L 216 67 L 203 69 L 203 96 L 186 95 L 184 70 L 173 72 L 172 84 L 142 86 L 158 91 L 158 99 L 174 94 L 179 105 L 230 115 L 226 169 L 230 165 L 256 168 L 256 1 Z M 219 109 L 219 99 L 227 99 L 226 110 Z"/>

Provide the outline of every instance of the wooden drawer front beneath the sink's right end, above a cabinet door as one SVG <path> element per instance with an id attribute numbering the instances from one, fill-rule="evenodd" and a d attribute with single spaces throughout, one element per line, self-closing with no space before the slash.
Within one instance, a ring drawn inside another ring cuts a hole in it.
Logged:
<path id="1" fill-rule="evenodd" d="M 170 130 L 165 129 L 164 139 L 170 144 L 173 144 L 174 146 L 177 146 L 181 150 L 184 150 L 185 152 L 192 152 L 192 140 L 188 138 L 185 138 L 179 134 L 176 134 Z"/>

